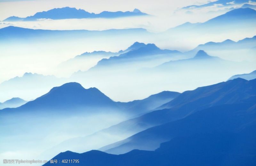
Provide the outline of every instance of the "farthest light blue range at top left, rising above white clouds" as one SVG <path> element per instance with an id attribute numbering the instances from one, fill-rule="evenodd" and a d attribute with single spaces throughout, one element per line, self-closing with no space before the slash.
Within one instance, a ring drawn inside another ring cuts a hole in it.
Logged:
<path id="1" fill-rule="evenodd" d="M 48 11 L 37 12 L 33 16 L 28 16 L 25 18 L 20 18 L 16 16 L 8 17 L 4 21 L 35 21 L 37 19 L 84 19 L 84 18 L 118 18 L 118 17 L 131 17 L 131 16 L 142 16 L 148 15 L 147 13 L 141 12 L 139 9 L 134 9 L 133 11 L 117 11 L 108 12 L 103 11 L 101 13 L 95 14 L 86 12 L 83 9 L 76 9 L 71 7 L 54 8 Z"/>

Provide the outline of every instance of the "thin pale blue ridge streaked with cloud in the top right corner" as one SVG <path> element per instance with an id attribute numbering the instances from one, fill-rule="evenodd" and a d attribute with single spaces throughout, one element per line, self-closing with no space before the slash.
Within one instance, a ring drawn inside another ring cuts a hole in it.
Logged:
<path id="1" fill-rule="evenodd" d="M 216 4 L 219 4 L 221 6 L 230 6 L 230 5 L 234 5 L 234 4 L 244 4 L 244 3 L 248 3 L 248 2 L 249 2 L 249 0 L 217 0 L 217 1 L 206 3 L 206 4 L 202 4 L 202 5 L 185 6 L 182 9 L 203 8 L 203 7 L 213 6 Z M 256 2 L 256 1 L 251 0 L 251 2 Z"/>

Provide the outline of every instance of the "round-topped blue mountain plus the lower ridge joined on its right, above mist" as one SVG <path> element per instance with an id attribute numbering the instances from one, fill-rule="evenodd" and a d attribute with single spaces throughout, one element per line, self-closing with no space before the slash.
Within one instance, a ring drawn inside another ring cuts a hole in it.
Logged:
<path id="1" fill-rule="evenodd" d="M 18 77 L 19 78 L 19 77 Z M 73 114 L 76 111 L 86 110 L 93 107 L 118 111 L 126 111 L 131 116 L 147 113 L 148 111 L 161 106 L 167 101 L 171 101 L 179 95 L 178 92 L 161 92 L 159 94 L 148 97 L 143 100 L 135 100 L 132 102 L 115 102 L 108 98 L 105 94 L 99 91 L 97 88 L 84 89 L 79 83 L 65 83 L 59 87 L 52 88 L 48 93 L 36 98 L 33 101 L 29 101 L 26 104 L 18 108 L 6 108 L 2 110 L 2 113 L 12 110 L 22 111 L 66 111 L 73 110 Z M 100 109 L 98 109 L 100 110 Z M 96 112 L 93 112 L 96 114 Z"/>

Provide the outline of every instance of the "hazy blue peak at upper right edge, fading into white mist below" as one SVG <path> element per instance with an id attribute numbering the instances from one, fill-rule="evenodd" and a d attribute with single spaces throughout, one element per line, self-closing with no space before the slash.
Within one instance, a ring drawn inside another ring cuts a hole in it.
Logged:
<path id="1" fill-rule="evenodd" d="M 254 9 L 238 8 L 203 23 L 185 23 L 175 28 L 170 28 L 164 32 L 163 35 L 177 37 L 176 34 L 178 33 L 181 37 L 196 37 L 203 34 L 231 36 L 235 31 L 244 32 L 245 30 L 248 30 L 248 32 L 252 32 L 251 30 L 252 27 L 255 26 L 255 20 L 256 11 Z M 184 30 L 186 31 L 184 32 Z M 211 38 L 212 37 L 214 36 L 211 36 Z"/>

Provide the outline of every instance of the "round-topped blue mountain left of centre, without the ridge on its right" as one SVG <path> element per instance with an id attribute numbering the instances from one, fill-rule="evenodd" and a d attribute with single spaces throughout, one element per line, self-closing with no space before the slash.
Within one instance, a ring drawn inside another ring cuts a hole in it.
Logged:
<path id="1" fill-rule="evenodd" d="M 97 88 L 84 89 L 79 83 L 65 83 L 59 87 L 52 88 L 43 96 L 29 101 L 25 105 L 15 110 L 35 111 L 35 110 L 83 110 L 89 107 L 116 107 L 114 101 L 100 92 Z M 11 112 L 4 109 L 2 112 Z"/>

